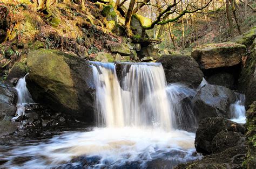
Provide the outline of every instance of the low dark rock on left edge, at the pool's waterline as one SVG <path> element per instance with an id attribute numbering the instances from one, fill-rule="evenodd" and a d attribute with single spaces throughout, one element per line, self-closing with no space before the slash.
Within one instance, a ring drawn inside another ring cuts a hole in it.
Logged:
<path id="1" fill-rule="evenodd" d="M 0 136 L 14 133 L 20 123 L 10 121 L 0 121 Z"/>

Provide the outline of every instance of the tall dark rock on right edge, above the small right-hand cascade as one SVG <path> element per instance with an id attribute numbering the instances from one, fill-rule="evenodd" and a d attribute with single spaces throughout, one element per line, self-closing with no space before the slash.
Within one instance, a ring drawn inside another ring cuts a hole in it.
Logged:
<path id="1" fill-rule="evenodd" d="M 248 107 L 256 100 L 256 39 L 251 47 L 251 54 L 245 59 L 239 79 L 238 89 L 246 94 L 245 105 Z"/>

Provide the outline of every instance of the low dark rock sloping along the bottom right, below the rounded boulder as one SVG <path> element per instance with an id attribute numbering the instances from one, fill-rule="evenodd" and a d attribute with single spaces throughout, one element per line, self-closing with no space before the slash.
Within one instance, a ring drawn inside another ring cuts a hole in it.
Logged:
<path id="1" fill-rule="evenodd" d="M 246 146 L 235 146 L 223 152 L 205 156 L 201 160 L 180 164 L 175 168 L 242 168 L 245 156 Z"/>

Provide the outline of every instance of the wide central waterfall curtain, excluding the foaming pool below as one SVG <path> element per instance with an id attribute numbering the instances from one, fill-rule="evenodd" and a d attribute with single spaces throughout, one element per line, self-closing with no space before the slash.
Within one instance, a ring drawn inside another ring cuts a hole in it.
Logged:
<path id="1" fill-rule="evenodd" d="M 92 62 L 92 68 L 98 126 L 171 130 L 181 126 L 184 119 L 188 125 L 195 124 L 191 109 L 185 112 L 180 103 L 194 91 L 181 85 L 168 87 L 160 63 Z"/>

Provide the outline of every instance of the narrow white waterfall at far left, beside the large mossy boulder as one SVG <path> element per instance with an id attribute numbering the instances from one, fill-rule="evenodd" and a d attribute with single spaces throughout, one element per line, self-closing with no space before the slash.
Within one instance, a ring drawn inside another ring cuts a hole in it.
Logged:
<path id="1" fill-rule="evenodd" d="M 16 110 L 16 117 L 12 118 L 12 120 L 17 119 L 19 116 L 24 115 L 25 113 L 25 105 L 29 103 L 35 103 L 32 100 L 32 97 L 29 93 L 28 88 L 26 88 L 26 74 L 23 78 L 18 80 L 18 83 L 15 87 L 18 93 L 18 101 L 17 101 L 17 110 Z"/>

